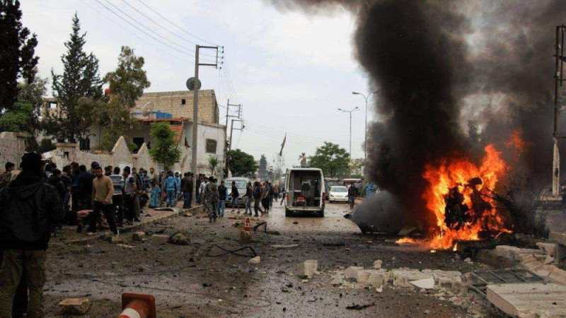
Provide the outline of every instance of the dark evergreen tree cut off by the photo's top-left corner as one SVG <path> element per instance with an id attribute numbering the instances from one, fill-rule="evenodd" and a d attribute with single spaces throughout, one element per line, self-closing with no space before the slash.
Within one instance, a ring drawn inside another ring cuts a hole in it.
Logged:
<path id="1" fill-rule="evenodd" d="M 0 112 L 10 110 L 18 98 L 18 78 L 33 82 L 37 37 L 21 23 L 20 1 L 0 0 Z"/>

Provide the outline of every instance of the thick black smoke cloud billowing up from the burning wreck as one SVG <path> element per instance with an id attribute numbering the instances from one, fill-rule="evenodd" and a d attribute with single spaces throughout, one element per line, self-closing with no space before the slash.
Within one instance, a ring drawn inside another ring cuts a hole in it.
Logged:
<path id="1" fill-rule="evenodd" d="M 430 216 L 421 198 L 424 165 L 478 158 L 495 143 L 529 175 L 550 179 L 555 25 L 560 0 L 272 1 L 282 10 L 357 16 L 357 59 L 379 89 L 366 173 L 415 218 Z M 470 140 L 468 121 L 480 126 Z M 506 146 L 521 129 L 529 147 Z M 566 148 L 566 147 L 565 147 Z M 519 158 L 519 159 L 518 159 Z M 550 183 L 550 180 L 549 180 Z"/>

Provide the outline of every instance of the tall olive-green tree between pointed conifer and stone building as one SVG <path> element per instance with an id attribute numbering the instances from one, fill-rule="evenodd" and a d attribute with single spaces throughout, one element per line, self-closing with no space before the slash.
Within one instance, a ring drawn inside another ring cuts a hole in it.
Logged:
<path id="1" fill-rule="evenodd" d="M 151 85 L 143 66 L 143 57 L 137 57 L 129 47 L 122 47 L 117 68 L 103 78 L 110 86 L 110 94 L 99 100 L 79 101 L 83 125 L 102 127 L 100 148 L 104 150 L 110 150 L 120 136 L 138 124 L 132 118 L 132 108 L 144 94 L 144 89 Z"/>

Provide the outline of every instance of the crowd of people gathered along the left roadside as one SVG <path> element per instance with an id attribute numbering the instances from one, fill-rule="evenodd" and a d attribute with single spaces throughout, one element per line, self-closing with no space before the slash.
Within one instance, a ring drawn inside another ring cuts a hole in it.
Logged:
<path id="1" fill-rule="evenodd" d="M 102 167 L 93 162 L 71 163 L 59 170 L 38 153 L 23 155 L 16 169 L 6 163 L 0 175 L 0 317 L 43 317 L 45 251 L 50 237 L 62 224 L 77 232 L 96 232 L 103 225 L 118 234 L 125 225 L 139 222 L 144 207 L 183 208 L 195 202 L 204 206 L 209 222 L 224 218 L 226 203 L 232 211 L 267 215 L 282 192 L 271 182 L 248 182 L 240 193 L 236 182 L 192 172 L 156 173 L 136 167 Z M 196 178 L 196 179 L 195 179 Z M 194 189 L 194 185 L 197 187 Z M 194 191 L 196 190 L 196 191 Z"/>

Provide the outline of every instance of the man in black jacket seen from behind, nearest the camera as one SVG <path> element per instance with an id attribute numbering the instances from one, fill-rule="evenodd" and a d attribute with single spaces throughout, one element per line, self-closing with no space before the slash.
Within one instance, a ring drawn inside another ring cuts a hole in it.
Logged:
<path id="1" fill-rule="evenodd" d="M 28 275 L 28 317 L 44 317 L 45 259 L 51 229 L 64 216 L 57 190 L 42 181 L 41 155 L 26 153 L 22 172 L 0 191 L 0 317 L 12 316 L 12 300 Z"/>

